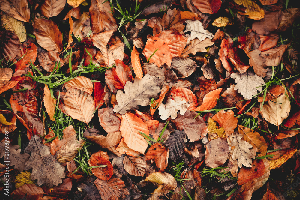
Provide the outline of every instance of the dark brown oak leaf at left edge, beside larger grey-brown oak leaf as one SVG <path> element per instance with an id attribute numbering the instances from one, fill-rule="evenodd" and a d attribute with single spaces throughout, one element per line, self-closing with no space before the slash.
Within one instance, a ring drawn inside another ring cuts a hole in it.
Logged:
<path id="1" fill-rule="evenodd" d="M 0 143 L 0 158 L 4 156 L 4 161 L 9 161 L 9 166 L 14 165 L 14 169 L 17 169 L 19 172 L 22 172 L 25 166 L 26 161 L 29 159 L 29 154 L 21 154 L 21 149 L 19 149 L 19 145 L 6 145 L 5 143 L 7 140 L 4 142 Z M 7 157 L 7 148 L 9 150 L 9 154 Z"/>

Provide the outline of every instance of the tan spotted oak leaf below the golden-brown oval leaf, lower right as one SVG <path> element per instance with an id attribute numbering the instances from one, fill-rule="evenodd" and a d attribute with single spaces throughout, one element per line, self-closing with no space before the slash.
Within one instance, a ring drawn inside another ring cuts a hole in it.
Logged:
<path id="1" fill-rule="evenodd" d="M 239 133 L 232 133 L 232 135 L 227 138 L 229 146 L 234 147 L 233 150 L 231 149 L 232 159 L 238 160 L 238 167 L 242 167 L 242 165 L 251 167 L 251 158 L 255 158 L 253 146 L 242 138 L 243 136 Z"/>

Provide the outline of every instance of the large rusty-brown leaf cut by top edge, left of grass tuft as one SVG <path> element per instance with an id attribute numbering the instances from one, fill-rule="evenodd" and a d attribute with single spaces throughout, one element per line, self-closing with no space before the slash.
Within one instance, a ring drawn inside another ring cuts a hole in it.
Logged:
<path id="1" fill-rule="evenodd" d="M 91 15 L 91 28 L 95 34 L 101 33 L 104 30 L 117 30 L 116 20 L 111 13 L 110 3 L 108 1 L 92 0 L 89 12 Z"/>

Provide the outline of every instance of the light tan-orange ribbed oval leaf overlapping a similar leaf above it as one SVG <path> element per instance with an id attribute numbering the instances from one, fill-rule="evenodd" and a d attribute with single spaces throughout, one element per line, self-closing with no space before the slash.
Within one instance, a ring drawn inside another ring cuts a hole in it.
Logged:
<path id="1" fill-rule="evenodd" d="M 96 110 L 94 98 L 87 92 L 76 88 L 67 90 L 63 107 L 67 115 L 85 123 L 91 121 Z"/>

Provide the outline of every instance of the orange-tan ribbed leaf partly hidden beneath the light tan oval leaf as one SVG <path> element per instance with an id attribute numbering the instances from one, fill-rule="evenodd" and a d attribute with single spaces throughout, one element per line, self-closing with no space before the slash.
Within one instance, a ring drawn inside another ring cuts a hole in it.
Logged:
<path id="1" fill-rule="evenodd" d="M 67 90 L 69 90 L 69 88 L 75 88 L 81 91 L 86 91 L 90 95 L 92 95 L 94 90 L 91 80 L 84 76 L 77 76 L 75 79 L 69 80 L 64 84 L 64 87 Z"/>

